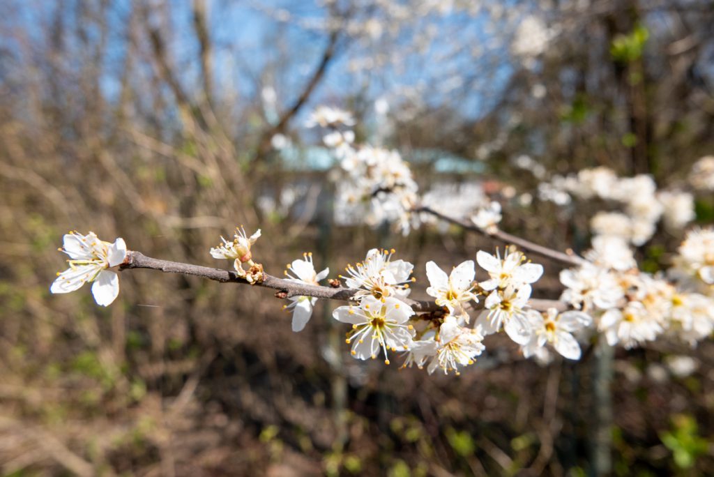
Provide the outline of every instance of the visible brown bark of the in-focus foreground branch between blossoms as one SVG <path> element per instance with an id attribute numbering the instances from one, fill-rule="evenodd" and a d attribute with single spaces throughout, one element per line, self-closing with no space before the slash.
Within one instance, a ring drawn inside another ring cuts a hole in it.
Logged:
<path id="1" fill-rule="evenodd" d="M 212 268 L 208 266 L 192 265 L 191 263 L 181 263 L 176 261 L 161 260 L 144 255 L 138 251 L 127 251 L 124 262 L 120 268 L 126 270 L 129 268 L 149 268 L 151 270 L 159 270 L 164 273 L 180 273 L 182 275 L 200 276 L 209 280 L 218 281 L 220 283 L 241 283 L 249 284 L 246 278 L 241 278 L 235 271 L 223 270 L 221 268 Z M 353 288 L 333 288 L 331 286 L 308 285 L 307 283 L 296 283 L 278 278 L 276 276 L 263 273 L 263 281 L 255 283 L 256 286 L 263 288 L 271 288 L 276 290 L 278 298 L 290 298 L 291 296 L 312 296 L 314 298 L 327 298 L 331 300 L 348 301 L 358 290 Z M 410 298 L 400 298 L 401 301 L 411 306 L 416 312 L 431 312 L 441 311 L 443 308 L 438 306 L 433 301 L 412 300 Z M 540 300 L 531 299 L 529 301 L 531 308 L 545 311 L 548 308 L 558 308 L 564 310 L 565 303 L 557 300 Z M 476 303 L 474 309 L 483 308 L 481 303 Z"/>

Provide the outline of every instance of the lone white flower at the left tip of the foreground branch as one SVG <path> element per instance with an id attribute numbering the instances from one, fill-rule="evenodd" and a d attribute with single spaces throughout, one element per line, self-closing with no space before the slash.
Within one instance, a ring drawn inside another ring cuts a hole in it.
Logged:
<path id="1" fill-rule="evenodd" d="M 107 268 L 120 265 L 126 258 L 126 243 L 99 240 L 94 232 L 82 235 L 73 231 L 63 238 L 63 251 L 69 255 L 69 268 L 57 273 L 49 288 L 51 293 L 69 293 L 84 283 L 93 283 L 91 293 L 98 305 L 108 306 L 119 296 L 119 277 Z"/>

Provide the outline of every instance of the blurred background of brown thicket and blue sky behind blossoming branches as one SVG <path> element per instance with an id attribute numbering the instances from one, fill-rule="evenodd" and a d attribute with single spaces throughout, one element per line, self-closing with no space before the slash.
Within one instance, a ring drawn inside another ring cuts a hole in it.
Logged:
<path id="1" fill-rule="evenodd" d="M 714 473 L 708 341 L 618 350 L 603 371 L 492 337 L 461 376 L 427 376 L 352 359 L 338 303 L 292 333 L 270 291 L 158 271 L 120 273 L 108 308 L 89 287 L 49 295 L 74 229 L 224 266 L 208 249 L 244 224 L 278 276 L 303 251 L 334 277 L 395 247 L 415 298 L 426 261 L 498 245 L 338 214 L 335 160 L 304 127 L 319 104 L 401 151 L 421 191 L 486 194 L 506 231 L 582 250 L 590 204 L 538 184 L 593 166 L 680 184 L 714 151 L 713 25 L 707 0 L 0 1 L 0 471 Z M 711 223 L 712 197 L 695 205 Z M 658 230 L 643 266 L 681 236 Z M 534 294 L 557 298 L 541 263 Z"/>

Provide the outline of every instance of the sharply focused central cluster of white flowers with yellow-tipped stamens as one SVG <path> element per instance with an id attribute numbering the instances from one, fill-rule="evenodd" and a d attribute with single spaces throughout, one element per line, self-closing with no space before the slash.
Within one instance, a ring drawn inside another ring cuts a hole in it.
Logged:
<path id="1" fill-rule="evenodd" d="M 346 343 L 351 344 L 354 357 L 376 358 L 383 353 L 389 363 L 390 352 L 406 352 L 403 366 L 458 373 L 486 349 L 484 338 L 501 330 L 526 356 L 547 353 L 544 346 L 550 343 L 566 358 L 580 357 L 580 346 L 570 333 L 589 326 L 590 318 L 577 311 L 553 309 L 542 315 L 529 308 L 531 284 L 543 274 L 543 267 L 528 261 L 521 251 L 509 249 L 503 258 L 498 252 L 493 256 L 480 251 L 476 261 L 488 273 L 488 279 L 480 282 L 473 260 L 448 274 L 428 261 L 426 293 L 442 311 L 422 316 L 403 300 L 413 281 L 413 265 L 392 260 L 393 253 L 374 248 L 363 262 L 346 268 L 348 276 L 341 277 L 356 288 L 356 304 L 336 308 L 333 317 L 352 325 Z M 477 308 L 481 312 L 472 323 L 471 311 Z"/>

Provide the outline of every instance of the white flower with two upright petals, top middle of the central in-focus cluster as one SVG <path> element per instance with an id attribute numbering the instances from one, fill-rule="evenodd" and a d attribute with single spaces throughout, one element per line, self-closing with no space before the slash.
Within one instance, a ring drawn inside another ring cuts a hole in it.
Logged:
<path id="1" fill-rule="evenodd" d="M 468 323 L 469 316 L 464 305 L 469 301 L 478 303 L 478 297 L 473 293 L 473 279 L 476 278 L 473 260 L 460 263 L 448 276 L 436 263 L 428 261 L 426 276 L 431 285 L 426 288 L 426 293 L 436 298 L 438 306 L 446 306 L 451 315 Z"/>

